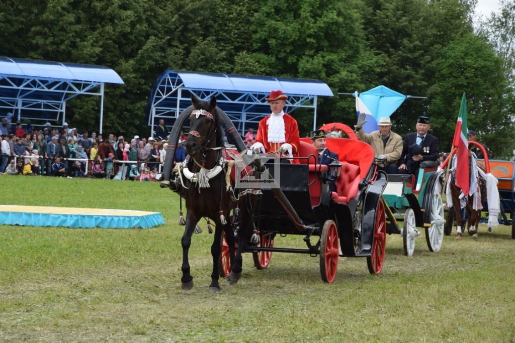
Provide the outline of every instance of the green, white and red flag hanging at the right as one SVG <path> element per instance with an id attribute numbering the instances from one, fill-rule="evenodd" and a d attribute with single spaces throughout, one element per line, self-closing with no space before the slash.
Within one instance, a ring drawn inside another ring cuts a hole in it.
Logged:
<path id="1" fill-rule="evenodd" d="M 454 130 L 453 147 L 456 147 L 456 186 L 465 195 L 470 195 L 469 149 L 467 142 L 467 99 L 465 93 L 461 98 L 458 121 Z"/>

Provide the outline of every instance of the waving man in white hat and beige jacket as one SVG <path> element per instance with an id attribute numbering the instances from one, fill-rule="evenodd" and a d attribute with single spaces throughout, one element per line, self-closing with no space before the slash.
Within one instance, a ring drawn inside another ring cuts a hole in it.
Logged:
<path id="1" fill-rule="evenodd" d="M 387 174 L 397 174 L 403 148 L 402 137 L 391 131 L 392 123 L 389 117 L 379 119 L 379 130 L 371 133 L 363 132 L 362 126 L 365 122 L 365 114 L 360 114 L 356 124 L 356 136 L 372 146 L 374 156 L 382 160 L 382 163 L 377 165 L 378 170 L 384 170 Z"/>

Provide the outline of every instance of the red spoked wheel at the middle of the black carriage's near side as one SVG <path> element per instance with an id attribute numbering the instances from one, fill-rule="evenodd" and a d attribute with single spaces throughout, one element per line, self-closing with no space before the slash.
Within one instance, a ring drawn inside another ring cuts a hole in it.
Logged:
<path id="1" fill-rule="evenodd" d="M 320 236 L 320 275 L 322 281 L 333 283 L 338 269 L 338 229 L 336 223 L 327 220 Z"/>

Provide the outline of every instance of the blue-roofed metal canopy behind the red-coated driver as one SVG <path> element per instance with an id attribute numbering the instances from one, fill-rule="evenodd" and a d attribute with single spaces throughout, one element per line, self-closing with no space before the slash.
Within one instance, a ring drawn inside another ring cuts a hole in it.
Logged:
<path id="1" fill-rule="evenodd" d="M 150 94 L 146 122 L 153 135 L 159 119 L 164 119 L 167 125 L 175 122 L 178 115 L 191 105 L 192 94 L 202 100 L 215 96 L 218 107 L 244 135 L 246 128 L 257 128 L 259 121 L 270 114 L 270 106 L 265 99 L 275 89 L 282 89 L 288 95 L 285 112 L 313 109 L 314 130 L 317 97 L 333 96 L 329 86 L 318 80 L 166 70 Z"/>

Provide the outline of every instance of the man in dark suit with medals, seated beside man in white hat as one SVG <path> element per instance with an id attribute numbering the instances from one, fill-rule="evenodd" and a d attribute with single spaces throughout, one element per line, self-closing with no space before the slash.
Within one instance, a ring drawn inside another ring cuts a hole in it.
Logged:
<path id="1" fill-rule="evenodd" d="M 428 134 L 431 129 L 429 117 L 419 116 L 417 132 L 408 133 L 404 137 L 402 155 L 399 159 L 399 174 L 413 174 L 417 176 L 422 162 L 438 159 L 438 138 Z"/>

